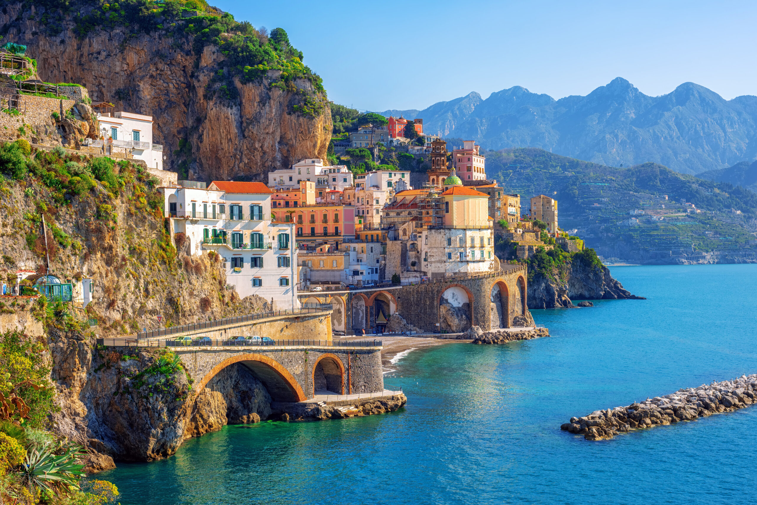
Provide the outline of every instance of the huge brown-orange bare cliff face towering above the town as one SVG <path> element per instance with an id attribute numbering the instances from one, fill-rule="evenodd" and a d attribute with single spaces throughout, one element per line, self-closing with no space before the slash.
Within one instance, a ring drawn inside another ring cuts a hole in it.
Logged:
<path id="1" fill-rule="evenodd" d="M 0 12 L 3 42 L 26 45 L 42 80 L 79 83 L 93 101 L 151 115 L 153 142 L 164 145 L 165 169 L 179 171 L 185 162 L 195 179 L 265 180 L 269 170 L 305 157 L 326 158 L 332 131 L 328 104 L 316 117 L 293 110 L 302 92 L 312 90 L 307 80 L 271 87 L 278 76 L 271 70 L 262 82 L 235 81 L 238 98 L 228 99 L 210 82 L 225 56 L 214 45 L 195 55 L 188 33 L 134 35 L 122 27 L 77 39 L 69 16 L 63 32 L 50 37 L 39 22 L 43 8 L 23 5 L 8 4 Z M 181 141 L 190 148 L 179 149 Z"/>

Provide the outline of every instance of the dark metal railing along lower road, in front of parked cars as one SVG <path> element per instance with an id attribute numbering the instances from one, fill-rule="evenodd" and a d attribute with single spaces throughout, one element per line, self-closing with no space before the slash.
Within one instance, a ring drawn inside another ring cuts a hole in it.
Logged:
<path id="1" fill-rule="evenodd" d="M 331 340 L 213 340 L 211 338 L 195 338 L 195 340 L 141 340 L 139 338 L 98 338 L 98 345 L 109 347 L 139 347 L 139 348 L 192 348 L 192 347 L 324 347 L 324 348 L 378 348 L 382 346 L 380 340 L 361 341 L 331 341 Z"/>

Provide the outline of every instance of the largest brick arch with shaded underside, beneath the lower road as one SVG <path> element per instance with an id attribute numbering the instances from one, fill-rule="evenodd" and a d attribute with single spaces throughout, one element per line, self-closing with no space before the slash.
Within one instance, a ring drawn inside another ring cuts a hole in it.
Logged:
<path id="1" fill-rule="evenodd" d="M 213 366 L 202 378 L 199 385 L 195 386 L 195 395 L 202 391 L 210 379 L 213 379 L 221 370 L 226 366 L 233 365 L 234 363 L 242 363 L 245 365 L 260 382 L 268 390 L 268 394 L 274 401 L 305 401 L 307 397 L 297 379 L 289 373 L 289 371 L 275 360 L 263 354 L 238 354 L 226 358 L 222 362 Z"/>

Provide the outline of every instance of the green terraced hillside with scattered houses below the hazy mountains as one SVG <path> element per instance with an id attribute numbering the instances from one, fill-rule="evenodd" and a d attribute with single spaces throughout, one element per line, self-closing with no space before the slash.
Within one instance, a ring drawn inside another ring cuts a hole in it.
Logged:
<path id="1" fill-rule="evenodd" d="M 578 229 L 604 256 L 652 261 L 692 251 L 748 253 L 755 240 L 757 195 L 727 182 L 651 163 L 606 167 L 538 148 L 485 156 L 488 177 L 519 193 L 524 212 L 531 196 L 556 198 L 562 229 Z"/>

